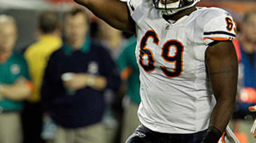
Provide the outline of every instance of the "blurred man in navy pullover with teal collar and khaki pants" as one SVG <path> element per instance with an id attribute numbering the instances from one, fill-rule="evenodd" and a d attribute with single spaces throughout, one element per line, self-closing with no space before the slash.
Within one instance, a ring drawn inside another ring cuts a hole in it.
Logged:
<path id="1" fill-rule="evenodd" d="M 104 90 L 118 89 L 115 63 L 88 36 L 88 15 L 74 9 L 65 14 L 63 46 L 49 58 L 41 87 L 44 110 L 57 124 L 54 142 L 105 142 Z"/>

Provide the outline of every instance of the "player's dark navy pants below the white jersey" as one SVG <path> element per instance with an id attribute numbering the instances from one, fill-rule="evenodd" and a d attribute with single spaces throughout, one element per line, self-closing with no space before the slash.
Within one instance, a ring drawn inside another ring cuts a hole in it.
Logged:
<path id="1" fill-rule="evenodd" d="M 206 130 L 191 134 L 158 133 L 140 125 L 126 143 L 200 143 Z"/>

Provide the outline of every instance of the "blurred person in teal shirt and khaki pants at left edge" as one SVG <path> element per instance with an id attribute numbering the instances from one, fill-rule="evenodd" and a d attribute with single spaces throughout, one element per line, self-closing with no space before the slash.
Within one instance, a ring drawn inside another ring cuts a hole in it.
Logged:
<path id="1" fill-rule="evenodd" d="M 17 39 L 15 20 L 0 15 L 0 142 L 20 143 L 20 111 L 32 91 L 27 62 L 13 52 Z"/>

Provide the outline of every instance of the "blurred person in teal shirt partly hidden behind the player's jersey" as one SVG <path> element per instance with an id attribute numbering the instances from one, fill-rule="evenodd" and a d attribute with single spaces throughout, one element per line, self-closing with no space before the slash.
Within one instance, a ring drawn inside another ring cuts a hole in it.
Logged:
<path id="1" fill-rule="evenodd" d="M 137 39 L 132 36 L 127 39 L 125 47 L 121 55 L 118 58 L 118 66 L 120 70 L 121 79 L 127 85 L 126 97 L 124 101 L 129 101 L 127 105 L 124 105 L 123 125 L 122 125 L 122 142 L 132 135 L 135 128 L 140 125 L 138 120 L 137 110 L 140 104 L 140 79 L 139 68 L 135 58 L 135 47 Z"/>

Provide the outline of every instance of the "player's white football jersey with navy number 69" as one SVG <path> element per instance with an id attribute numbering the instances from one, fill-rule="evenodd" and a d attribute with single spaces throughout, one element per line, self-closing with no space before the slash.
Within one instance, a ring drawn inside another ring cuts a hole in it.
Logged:
<path id="1" fill-rule="evenodd" d="M 127 5 L 136 23 L 141 123 L 162 133 L 206 130 L 216 101 L 205 50 L 213 41 L 235 38 L 232 17 L 220 8 L 202 7 L 171 24 L 152 1 L 128 0 Z"/>

